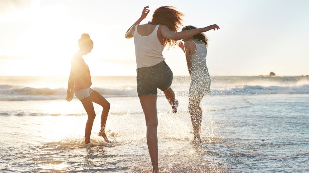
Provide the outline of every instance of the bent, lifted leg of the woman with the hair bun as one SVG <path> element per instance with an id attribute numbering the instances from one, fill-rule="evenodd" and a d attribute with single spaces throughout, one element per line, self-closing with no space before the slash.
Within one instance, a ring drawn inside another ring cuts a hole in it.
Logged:
<path id="1" fill-rule="evenodd" d="M 94 103 L 97 103 L 103 107 L 103 111 L 101 115 L 101 130 L 99 132 L 99 136 L 102 136 L 104 140 L 108 142 L 107 136 L 105 134 L 105 126 L 106 126 L 106 120 L 107 120 L 107 116 L 108 116 L 108 112 L 111 107 L 111 104 L 109 104 L 108 101 L 97 91 L 93 91 L 90 97 Z"/>

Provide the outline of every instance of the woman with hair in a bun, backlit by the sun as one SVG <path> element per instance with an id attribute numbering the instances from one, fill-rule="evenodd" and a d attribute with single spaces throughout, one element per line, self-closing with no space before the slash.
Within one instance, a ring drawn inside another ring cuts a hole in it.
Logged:
<path id="1" fill-rule="evenodd" d="M 109 112 L 110 104 L 105 98 L 99 94 L 97 91 L 94 91 L 90 88 L 91 76 L 88 65 L 83 60 L 83 55 L 87 55 L 91 52 L 93 48 L 93 41 L 90 39 L 90 36 L 86 33 L 83 33 L 81 38 L 78 40 L 79 50 L 73 56 L 71 61 L 71 72 L 68 82 L 68 93 L 65 100 L 71 101 L 73 98 L 73 93 L 76 98 L 80 100 L 87 112 L 88 120 L 86 123 L 85 130 L 85 143 L 90 143 L 90 135 L 92 130 L 92 125 L 96 113 L 94 112 L 93 103 L 97 103 L 103 107 L 101 115 L 101 130 L 99 136 L 102 136 L 106 142 L 108 142 L 107 136 L 105 134 L 105 124 L 107 120 L 107 115 Z"/>

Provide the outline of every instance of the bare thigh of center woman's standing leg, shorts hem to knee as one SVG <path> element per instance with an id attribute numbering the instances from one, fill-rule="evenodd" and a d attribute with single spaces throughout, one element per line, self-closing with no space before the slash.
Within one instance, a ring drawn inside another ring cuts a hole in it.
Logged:
<path id="1" fill-rule="evenodd" d="M 145 95 L 140 96 L 140 105 L 142 106 L 145 114 L 145 120 L 147 125 L 157 124 L 157 95 Z"/>

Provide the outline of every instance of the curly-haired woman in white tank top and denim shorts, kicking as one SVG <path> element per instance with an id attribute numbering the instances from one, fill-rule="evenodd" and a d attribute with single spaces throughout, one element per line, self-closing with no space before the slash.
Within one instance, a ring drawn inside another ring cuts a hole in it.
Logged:
<path id="1" fill-rule="evenodd" d="M 162 90 L 171 104 L 173 112 L 177 110 L 178 101 L 174 91 L 170 88 L 173 73 L 165 63 L 163 48 L 174 46 L 177 40 L 190 37 L 210 29 L 219 29 L 217 25 L 206 28 L 177 32 L 181 25 L 183 14 L 174 7 L 159 7 L 153 15 L 151 22 L 139 25 L 145 19 L 149 6 L 144 7 L 141 17 L 128 29 L 126 38 L 134 37 L 135 55 L 137 64 L 137 93 L 140 99 L 147 125 L 147 145 L 153 166 L 158 172 L 158 138 L 157 138 L 157 88 Z"/>

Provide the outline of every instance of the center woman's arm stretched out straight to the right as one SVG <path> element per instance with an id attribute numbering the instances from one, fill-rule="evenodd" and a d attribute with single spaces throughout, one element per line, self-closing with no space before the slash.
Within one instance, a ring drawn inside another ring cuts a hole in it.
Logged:
<path id="1" fill-rule="evenodd" d="M 191 36 L 198 34 L 198 33 L 209 31 L 211 29 L 216 30 L 216 29 L 220 29 L 220 28 L 219 28 L 218 25 L 213 24 L 213 25 L 207 26 L 205 28 L 197 28 L 197 29 L 186 30 L 186 31 L 174 33 L 173 31 L 169 30 L 169 28 L 165 25 L 162 25 L 162 27 L 160 27 L 161 34 L 164 38 L 167 38 L 167 39 L 170 39 L 170 40 L 176 40 L 176 41 L 187 38 L 187 37 L 191 37 Z"/>

